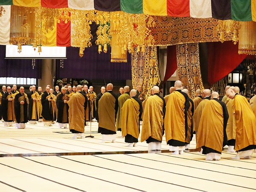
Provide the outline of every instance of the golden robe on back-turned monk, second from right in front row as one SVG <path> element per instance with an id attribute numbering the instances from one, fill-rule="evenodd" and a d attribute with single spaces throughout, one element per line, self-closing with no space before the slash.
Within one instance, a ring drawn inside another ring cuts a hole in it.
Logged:
<path id="1" fill-rule="evenodd" d="M 222 152 L 224 140 L 223 109 L 215 100 L 209 100 L 204 106 L 197 132 L 196 148 L 206 146 Z"/>

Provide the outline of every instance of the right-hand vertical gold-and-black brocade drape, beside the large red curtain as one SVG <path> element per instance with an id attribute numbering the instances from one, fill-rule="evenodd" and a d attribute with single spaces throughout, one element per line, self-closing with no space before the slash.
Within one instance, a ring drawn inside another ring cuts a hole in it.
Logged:
<path id="1" fill-rule="evenodd" d="M 199 43 L 177 45 L 176 53 L 179 80 L 184 88 L 189 90 L 189 97 L 195 98 L 195 91 L 204 89 L 200 70 Z"/>

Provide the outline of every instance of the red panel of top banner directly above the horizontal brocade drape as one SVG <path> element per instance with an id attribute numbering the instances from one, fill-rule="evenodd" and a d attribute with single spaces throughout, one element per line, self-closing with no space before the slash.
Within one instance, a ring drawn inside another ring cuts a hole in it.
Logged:
<path id="1" fill-rule="evenodd" d="M 189 0 L 167 0 L 167 15 L 172 17 L 189 17 Z"/>

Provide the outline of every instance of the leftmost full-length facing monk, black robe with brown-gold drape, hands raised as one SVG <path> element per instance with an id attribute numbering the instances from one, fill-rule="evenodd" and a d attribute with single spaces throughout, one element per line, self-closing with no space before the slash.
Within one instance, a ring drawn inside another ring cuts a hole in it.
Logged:
<path id="1" fill-rule="evenodd" d="M 12 126 L 12 122 L 15 121 L 14 112 L 14 98 L 12 89 L 10 86 L 6 88 L 7 92 L 2 96 L 2 113 L 3 113 L 3 126 Z"/>

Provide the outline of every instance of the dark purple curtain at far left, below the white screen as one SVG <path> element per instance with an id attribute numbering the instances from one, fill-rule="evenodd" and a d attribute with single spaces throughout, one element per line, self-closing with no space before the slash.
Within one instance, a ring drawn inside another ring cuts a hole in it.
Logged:
<path id="1" fill-rule="evenodd" d="M 5 59 L 6 46 L 0 45 L 0 77 L 27 77 L 41 79 L 41 60 L 35 60 L 34 69 L 32 59 Z"/>

